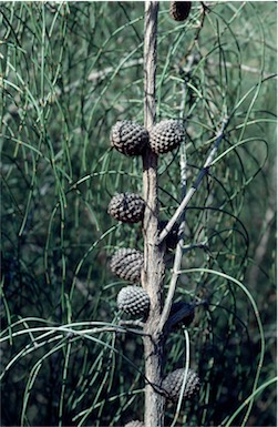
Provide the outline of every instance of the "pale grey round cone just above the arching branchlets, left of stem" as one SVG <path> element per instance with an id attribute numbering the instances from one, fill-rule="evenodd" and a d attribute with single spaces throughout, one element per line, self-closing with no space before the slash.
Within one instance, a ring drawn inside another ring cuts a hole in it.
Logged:
<path id="1" fill-rule="evenodd" d="M 146 316 L 150 309 L 150 297 L 142 287 L 126 286 L 117 294 L 117 307 L 134 316 Z"/>

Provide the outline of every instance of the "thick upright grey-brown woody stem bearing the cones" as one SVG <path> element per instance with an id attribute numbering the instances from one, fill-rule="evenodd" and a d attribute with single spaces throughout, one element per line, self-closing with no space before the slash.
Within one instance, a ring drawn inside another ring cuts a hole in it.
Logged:
<path id="1" fill-rule="evenodd" d="M 150 130 L 155 123 L 155 72 L 157 42 L 158 2 L 145 1 L 144 38 L 144 125 Z M 162 382 L 163 339 L 158 333 L 162 313 L 162 292 L 164 278 L 164 248 L 157 245 L 158 235 L 158 195 L 157 195 L 157 155 L 150 149 L 143 154 L 143 192 L 146 209 L 143 222 L 144 268 L 142 285 L 151 299 L 150 316 L 145 332 L 152 336 L 144 338 L 145 376 L 153 385 Z M 164 426 L 164 397 L 154 387 L 145 387 L 145 426 Z"/>

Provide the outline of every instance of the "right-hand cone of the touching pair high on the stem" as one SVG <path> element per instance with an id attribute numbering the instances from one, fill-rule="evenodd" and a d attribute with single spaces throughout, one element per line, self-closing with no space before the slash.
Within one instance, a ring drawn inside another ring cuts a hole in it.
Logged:
<path id="1" fill-rule="evenodd" d="M 167 153 L 185 140 L 184 126 L 177 120 L 163 120 L 150 132 L 150 146 L 156 154 Z"/>

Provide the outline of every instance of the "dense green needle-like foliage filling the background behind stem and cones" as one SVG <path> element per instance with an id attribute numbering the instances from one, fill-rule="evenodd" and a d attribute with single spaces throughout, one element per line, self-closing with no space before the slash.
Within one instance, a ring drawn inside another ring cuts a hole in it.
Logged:
<path id="1" fill-rule="evenodd" d="M 193 2 L 177 23 L 161 2 L 157 121 L 185 119 L 188 186 L 229 118 L 186 211 L 175 301 L 206 304 L 188 329 L 202 389 L 178 425 L 276 425 L 276 9 Z M 128 1 L 0 4 L 2 426 L 142 419 L 141 338 L 90 329 L 119 319 L 111 255 L 143 248 L 140 225 L 106 213 L 115 192 L 142 189 L 141 159 L 111 150 L 110 130 L 143 122 L 143 12 Z M 159 175 L 166 220 L 181 200 L 177 152 Z M 166 372 L 183 366 L 182 332 L 167 349 Z M 168 425 L 174 414 L 168 405 Z"/>

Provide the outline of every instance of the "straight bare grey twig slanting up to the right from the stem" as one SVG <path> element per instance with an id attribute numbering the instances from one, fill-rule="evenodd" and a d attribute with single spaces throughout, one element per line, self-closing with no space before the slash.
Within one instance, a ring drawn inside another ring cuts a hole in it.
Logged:
<path id="1" fill-rule="evenodd" d="M 214 144 L 214 148 L 212 149 L 202 171 L 199 172 L 195 183 L 193 184 L 193 186 L 189 189 L 188 193 L 186 194 L 186 196 L 184 197 L 184 200 L 182 201 L 181 205 L 177 207 L 176 212 L 174 213 L 174 215 L 172 216 L 172 218 L 169 220 L 169 222 L 167 223 L 167 225 L 165 226 L 165 228 L 163 228 L 163 231 L 161 232 L 159 236 L 158 236 L 158 244 L 161 244 L 164 238 L 169 234 L 169 232 L 172 231 L 174 224 L 179 220 L 179 217 L 182 216 L 185 207 L 187 206 L 187 204 L 189 203 L 193 194 L 198 190 L 199 187 L 199 184 L 203 180 L 203 177 L 207 174 L 208 170 L 209 170 L 209 166 L 214 160 L 214 156 L 219 148 L 219 144 L 224 138 L 224 131 L 226 129 L 228 124 L 228 118 L 225 118 L 224 122 L 223 122 L 223 125 L 220 128 L 220 131 L 218 132 L 218 135 L 217 135 L 217 139 L 216 139 L 216 142 Z"/>

